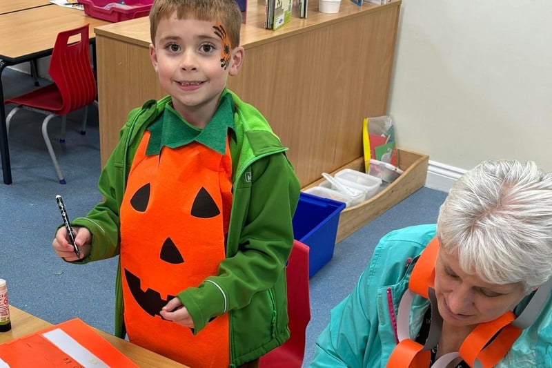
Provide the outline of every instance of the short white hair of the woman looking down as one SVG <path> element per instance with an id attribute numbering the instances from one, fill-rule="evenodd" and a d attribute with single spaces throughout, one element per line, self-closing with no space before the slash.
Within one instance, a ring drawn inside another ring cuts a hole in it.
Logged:
<path id="1" fill-rule="evenodd" d="M 534 162 L 482 162 L 446 197 L 437 237 L 462 271 L 531 292 L 552 276 L 552 175 Z"/>

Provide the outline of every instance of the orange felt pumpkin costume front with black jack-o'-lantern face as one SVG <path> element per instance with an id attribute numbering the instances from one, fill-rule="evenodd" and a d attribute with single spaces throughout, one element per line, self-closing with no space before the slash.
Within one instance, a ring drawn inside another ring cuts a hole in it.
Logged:
<path id="1" fill-rule="evenodd" d="M 228 313 L 194 336 L 190 329 L 163 320 L 159 311 L 179 291 L 216 275 L 225 257 L 232 204 L 228 145 L 225 155 L 197 142 L 146 155 L 149 140 L 146 132 L 121 205 L 128 337 L 191 367 L 227 367 Z"/>

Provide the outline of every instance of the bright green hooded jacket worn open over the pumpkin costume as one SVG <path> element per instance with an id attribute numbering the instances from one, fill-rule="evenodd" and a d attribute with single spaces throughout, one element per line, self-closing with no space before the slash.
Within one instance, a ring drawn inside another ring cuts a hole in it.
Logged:
<path id="1" fill-rule="evenodd" d="M 230 367 L 242 365 L 289 338 L 284 266 L 293 244 L 292 217 L 299 182 L 278 137 L 257 109 L 230 92 L 235 139 L 230 139 L 233 204 L 226 259 L 216 276 L 177 294 L 201 333 L 215 316 L 230 313 Z M 119 143 L 99 177 L 103 202 L 74 226 L 92 233 L 91 254 L 81 263 L 119 254 L 119 209 L 132 158 L 146 127 L 170 96 L 132 110 Z M 115 290 L 115 335 L 125 336 L 120 263 Z"/>

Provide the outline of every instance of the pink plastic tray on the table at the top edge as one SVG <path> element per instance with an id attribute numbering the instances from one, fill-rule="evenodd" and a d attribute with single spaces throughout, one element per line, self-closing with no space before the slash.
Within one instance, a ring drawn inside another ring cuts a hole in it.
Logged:
<path id="1" fill-rule="evenodd" d="M 79 0 L 79 3 L 83 4 L 85 14 L 90 17 L 117 22 L 145 17 L 153 0 Z"/>

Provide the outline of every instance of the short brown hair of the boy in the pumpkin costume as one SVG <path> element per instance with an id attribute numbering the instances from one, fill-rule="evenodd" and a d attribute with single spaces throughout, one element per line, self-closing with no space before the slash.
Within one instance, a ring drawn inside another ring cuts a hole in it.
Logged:
<path id="1" fill-rule="evenodd" d="M 226 27 L 230 46 L 239 46 L 242 12 L 235 0 L 155 0 L 150 10 L 150 35 L 154 45 L 159 21 L 173 13 L 178 19 L 219 21 Z"/>

